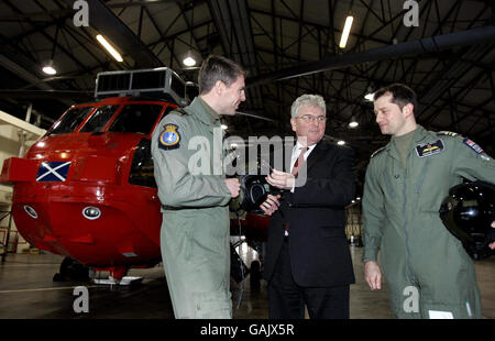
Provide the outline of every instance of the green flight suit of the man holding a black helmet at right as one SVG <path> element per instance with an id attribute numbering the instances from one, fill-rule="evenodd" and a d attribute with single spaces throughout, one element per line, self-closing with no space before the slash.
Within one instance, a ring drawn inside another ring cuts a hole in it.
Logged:
<path id="1" fill-rule="evenodd" d="M 418 125 L 413 141 L 406 168 L 392 142 L 372 155 L 362 202 L 363 261 L 376 262 L 380 250 L 398 318 L 481 318 L 474 266 L 439 208 L 461 177 L 494 183 L 495 162 L 455 133 Z"/>

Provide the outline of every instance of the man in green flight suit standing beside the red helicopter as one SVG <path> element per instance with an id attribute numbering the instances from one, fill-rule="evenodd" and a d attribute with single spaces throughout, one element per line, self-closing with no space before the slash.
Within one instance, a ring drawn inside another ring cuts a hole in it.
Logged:
<path id="1" fill-rule="evenodd" d="M 162 258 L 176 318 L 232 318 L 228 204 L 240 184 L 224 176 L 220 116 L 235 114 L 245 100 L 244 75 L 233 61 L 208 57 L 199 96 L 153 133 Z"/>

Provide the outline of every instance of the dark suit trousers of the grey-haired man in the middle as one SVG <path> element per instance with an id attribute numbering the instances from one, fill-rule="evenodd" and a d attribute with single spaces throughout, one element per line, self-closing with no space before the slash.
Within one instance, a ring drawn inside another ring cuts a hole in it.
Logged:
<path id="1" fill-rule="evenodd" d="M 305 305 L 311 319 L 349 319 L 349 285 L 297 285 L 292 275 L 288 243 L 284 242 L 268 283 L 270 318 L 304 319 Z"/>

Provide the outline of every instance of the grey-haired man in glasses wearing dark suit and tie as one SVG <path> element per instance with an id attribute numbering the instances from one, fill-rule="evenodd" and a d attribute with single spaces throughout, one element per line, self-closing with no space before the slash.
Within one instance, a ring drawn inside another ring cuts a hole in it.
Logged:
<path id="1" fill-rule="evenodd" d="M 271 318 L 349 318 L 355 282 L 345 238 L 344 207 L 354 197 L 354 154 L 321 141 L 324 100 L 302 95 L 292 107 L 297 143 L 286 172 L 267 182 L 282 190 L 261 205 L 272 216 L 264 264 Z"/>

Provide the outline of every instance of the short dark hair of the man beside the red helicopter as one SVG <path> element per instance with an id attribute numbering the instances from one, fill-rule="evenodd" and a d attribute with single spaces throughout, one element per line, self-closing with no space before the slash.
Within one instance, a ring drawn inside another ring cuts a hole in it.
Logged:
<path id="1" fill-rule="evenodd" d="M 222 56 L 210 55 L 202 62 L 199 70 L 199 94 L 210 92 L 217 80 L 221 80 L 230 87 L 239 76 L 245 77 L 245 75 L 246 72 L 238 63 Z"/>

